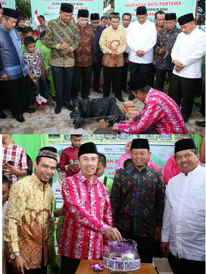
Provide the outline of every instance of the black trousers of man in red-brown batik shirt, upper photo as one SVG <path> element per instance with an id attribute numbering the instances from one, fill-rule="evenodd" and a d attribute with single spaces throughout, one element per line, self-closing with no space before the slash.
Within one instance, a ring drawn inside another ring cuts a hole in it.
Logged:
<path id="1" fill-rule="evenodd" d="M 92 65 L 87 67 L 74 66 L 73 81 L 72 81 L 72 99 L 76 99 L 78 97 L 81 75 L 82 75 L 81 95 L 82 95 L 82 98 L 85 98 L 88 96 L 88 92 L 90 89 L 90 84 L 92 79 Z"/>

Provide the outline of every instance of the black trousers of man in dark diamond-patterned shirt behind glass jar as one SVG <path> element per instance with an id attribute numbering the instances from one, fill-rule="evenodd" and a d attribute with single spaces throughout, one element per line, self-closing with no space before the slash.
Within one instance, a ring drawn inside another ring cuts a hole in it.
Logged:
<path id="1" fill-rule="evenodd" d="M 127 233 L 117 227 L 122 238 L 131 239 L 137 243 L 137 250 L 140 256 L 141 263 L 152 263 L 152 253 L 155 237 L 135 236 L 133 233 Z"/>

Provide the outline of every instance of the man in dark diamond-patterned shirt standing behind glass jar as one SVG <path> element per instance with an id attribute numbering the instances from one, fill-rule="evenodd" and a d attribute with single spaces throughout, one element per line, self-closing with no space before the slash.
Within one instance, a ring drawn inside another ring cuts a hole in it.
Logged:
<path id="1" fill-rule="evenodd" d="M 161 236 L 165 188 L 160 171 L 147 165 L 147 139 L 133 139 L 132 165 L 117 170 L 110 201 L 113 227 L 137 242 L 141 263 L 152 263 L 154 240 Z"/>

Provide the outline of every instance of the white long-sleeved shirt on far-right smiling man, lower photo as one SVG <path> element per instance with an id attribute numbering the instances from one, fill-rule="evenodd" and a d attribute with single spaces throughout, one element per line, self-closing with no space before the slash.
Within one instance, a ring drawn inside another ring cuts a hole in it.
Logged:
<path id="1" fill-rule="evenodd" d="M 169 242 L 170 241 L 170 242 Z M 205 261 L 205 168 L 171 178 L 165 192 L 161 242 L 173 255 Z"/>

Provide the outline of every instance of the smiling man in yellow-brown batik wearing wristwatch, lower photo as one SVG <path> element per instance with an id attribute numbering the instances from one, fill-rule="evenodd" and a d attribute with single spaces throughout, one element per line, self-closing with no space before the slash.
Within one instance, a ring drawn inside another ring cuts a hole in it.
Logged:
<path id="1" fill-rule="evenodd" d="M 48 181 L 55 174 L 57 149 L 41 148 L 33 165 L 34 173 L 16 182 L 9 192 L 4 225 L 9 274 L 46 274 L 52 258 L 53 191 Z"/>

